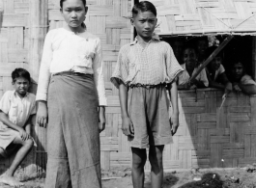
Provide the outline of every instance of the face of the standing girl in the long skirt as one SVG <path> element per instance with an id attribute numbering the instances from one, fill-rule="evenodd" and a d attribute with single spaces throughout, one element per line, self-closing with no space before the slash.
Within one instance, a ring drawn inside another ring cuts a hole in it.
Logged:
<path id="1" fill-rule="evenodd" d="M 73 28 L 80 27 L 85 20 L 87 8 L 81 0 L 66 0 L 63 2 L 61 13 L 66 23 Z"/>

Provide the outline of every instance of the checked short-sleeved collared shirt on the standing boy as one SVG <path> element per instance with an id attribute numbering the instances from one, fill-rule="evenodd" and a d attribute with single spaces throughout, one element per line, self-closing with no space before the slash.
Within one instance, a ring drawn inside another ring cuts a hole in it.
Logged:
<path id="1" fill-rule="evenodd" d="M 172 83 L 182 71 L 172 47 L 154 35 L 144 48 L 135 39 L 120 49 L 111 82 L 117 88 L 120 80 L 126 85 Z"/>

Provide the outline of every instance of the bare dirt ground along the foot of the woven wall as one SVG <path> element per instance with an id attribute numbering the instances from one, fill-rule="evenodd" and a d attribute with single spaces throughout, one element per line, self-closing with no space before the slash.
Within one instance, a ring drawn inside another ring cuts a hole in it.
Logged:
<path id="1" fill-rule="evenodd" d="M 44 176 L 26 179 L 24 187 L 43 188 Z M 0 187 L 9 188 L 3 184 Z M 132 188 L 130 169 L 103 171 L 102 188 Z M 145 188 L 151 188 L 149 172 L 145 176 Z M 163 188 L 256 188 L 256 165 L 241 169 L 165 172 Z"/>

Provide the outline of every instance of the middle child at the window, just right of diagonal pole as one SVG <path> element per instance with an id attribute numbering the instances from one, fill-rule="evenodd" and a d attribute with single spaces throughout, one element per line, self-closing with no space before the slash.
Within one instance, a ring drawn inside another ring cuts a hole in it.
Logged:
<path id="1" fill-rule="evenodd" d="M 211 56 L 216 48 L 216 46 L 209 47 L 207 49 L 207 57 Z M 225 92 L 231 92 L 232 84 L 226 76 L 225 68 L 222 66 L 222 60 L 223 55 L 219 52 L 206 67 L 209 87 L 225 89 Z"/>

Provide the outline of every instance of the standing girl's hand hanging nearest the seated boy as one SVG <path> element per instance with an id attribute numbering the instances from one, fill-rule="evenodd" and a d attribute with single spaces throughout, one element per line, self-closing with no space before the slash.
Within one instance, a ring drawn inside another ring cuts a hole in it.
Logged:
<path id="1" fill-rule="evenodd" d="M 38 111 L 37 111 L 36 122 L 40 126 L 43 126 L 44 128 L 46 127 L 46 123 L 47 123 L 47 106 L 46 106 L 46 102 L 45 101 L 39 101 L 39 103 L 38 103 Z"/>

